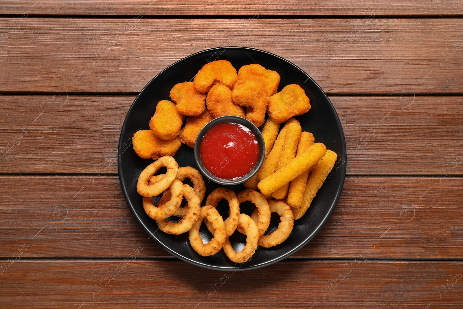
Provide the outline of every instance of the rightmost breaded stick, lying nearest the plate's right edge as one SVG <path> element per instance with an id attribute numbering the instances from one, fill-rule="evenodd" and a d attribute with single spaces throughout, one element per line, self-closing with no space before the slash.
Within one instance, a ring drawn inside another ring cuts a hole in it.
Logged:
<path id="1" fill-rule="evenodd" d="M 312 203 L 313 198 L 317 194 L 318 190 L 321 188 L 322 184 L 325 182 L 326 177 L 333 169 L 334 164 L 338 159 L 338 155 L 331 151 L 327 150 L 325 156 L 320 159 L 319 163 L 315 166 L 312 173 L 307 179 L 306 189 L 304 191 L 304 201 L 302 202 L 302 207 L 300 208 L 291 208 L 294 214 L 294 220 L 302 217 L 310 204 Z"/>

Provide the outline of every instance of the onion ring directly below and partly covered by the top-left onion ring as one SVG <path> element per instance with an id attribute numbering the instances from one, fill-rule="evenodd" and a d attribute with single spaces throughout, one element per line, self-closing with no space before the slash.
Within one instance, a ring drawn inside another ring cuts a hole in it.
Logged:
<path id="1" fill-rule="evenodd" d="M 143 197 L 143 208 L 154 220 L 162 220 L 170 217 L 180 207 L 181 197 L 183 196 L 183 184 L 180 180 L 174 179 L 170 184 L 169 189 L 163 193 L 163 197 L 157 203 L 157 207 L 153 205 L 153 197 Z"/>

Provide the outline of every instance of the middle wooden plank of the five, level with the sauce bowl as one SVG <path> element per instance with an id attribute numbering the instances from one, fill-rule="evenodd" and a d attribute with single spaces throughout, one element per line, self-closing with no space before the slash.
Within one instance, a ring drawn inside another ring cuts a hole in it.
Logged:
<path id="1" fill-rule="evenodd" d="M 120 128 L 134 98 L 0 96 L 0 170 L 117 173 Z M 332 96 L 331 100 L 346 137 L 348 174 L 463 173 L 461 97 Z"/>

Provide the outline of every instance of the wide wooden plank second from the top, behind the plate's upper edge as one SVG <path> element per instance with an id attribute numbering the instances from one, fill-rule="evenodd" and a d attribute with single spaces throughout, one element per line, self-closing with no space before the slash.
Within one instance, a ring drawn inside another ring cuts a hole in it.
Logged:
<path id="1" fill-rule="evenodd" d="M 138 92 L 218 46 L 267 50 L 327 93 L 462 93 L 463 19 L 0 19 L 0 91 Z"/>

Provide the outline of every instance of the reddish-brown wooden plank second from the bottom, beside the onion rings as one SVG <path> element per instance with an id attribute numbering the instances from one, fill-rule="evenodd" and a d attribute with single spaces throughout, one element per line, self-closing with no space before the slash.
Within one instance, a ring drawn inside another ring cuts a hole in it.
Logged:
<path id="1" fill-rule="evenodd" d="M 325 227 L 296 257 L 456 259 L 463 177 L 347 177 Z M 0 177 L 0 257 L 169 256 L 125 204 L 118 177 Z"/>

